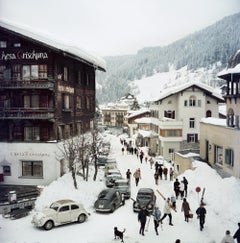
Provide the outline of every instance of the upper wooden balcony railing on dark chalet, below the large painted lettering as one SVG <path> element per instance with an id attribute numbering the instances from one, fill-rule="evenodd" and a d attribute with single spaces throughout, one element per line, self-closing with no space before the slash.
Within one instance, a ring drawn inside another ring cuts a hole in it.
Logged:
<path id="1" fill-rule="evenodd" d="M 0 79 L 0 88 L 8 89 L 53 89 L 53 79 Z"/>

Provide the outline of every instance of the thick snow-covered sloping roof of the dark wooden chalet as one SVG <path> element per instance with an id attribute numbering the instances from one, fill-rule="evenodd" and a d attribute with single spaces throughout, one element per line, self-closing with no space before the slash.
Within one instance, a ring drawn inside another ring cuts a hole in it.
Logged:
<path id="1" fill-rule="evenodd" d="M 57 39 L 50 33 L 40 33 L 35 29 L 31 29 L 29 26 L 20 26 L 19 24 L 2 19 L 0 19 L 0 26 L 17 34 L 21 34 L 29 39 L 41 42 L 48 47 L 62 51 L 65 54 L 69 54 L 72 58 L 80 59 L 88 64 L 92 64 L 99 70 L 106 71 L 106 63 L 102 58 L 80 49 L 78 46 L 76 46 L 76 44 L 67 43 L 64 40 Z"/>

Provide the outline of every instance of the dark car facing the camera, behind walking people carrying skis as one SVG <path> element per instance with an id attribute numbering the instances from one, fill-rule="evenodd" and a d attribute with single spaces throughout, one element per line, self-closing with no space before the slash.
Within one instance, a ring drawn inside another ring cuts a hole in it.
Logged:
<path id="1" fill-rule="evenodd" d="M 136 200 L 133 202 L 133 211 L 139 212 L 144 206 L 149 212 L 153 211 L 156 203 L 156 195 L 151 188 L 140 188 Z"/>

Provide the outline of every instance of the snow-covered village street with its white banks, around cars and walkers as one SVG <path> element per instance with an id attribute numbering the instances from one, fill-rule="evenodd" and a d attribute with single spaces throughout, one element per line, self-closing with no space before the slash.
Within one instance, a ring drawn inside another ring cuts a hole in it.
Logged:
<path id="1" fill-rule="evenodd" d="M 162 180 L 159 185 L 154 183 L 154 167 L 150 168 L 149 162 L 140 163 L 135 154 L 122 154 L 120 137 L 107 134 L 111 143 L 111 157 L 115 157 L 118 168 L 123 177 L 126 176 L 127 169 L 132 174 L 135 169 L 140 168 L 142 179 L 139 186 L 136 187 L 133 178 L 131 179 L 132 198 L 136 198 L 137 190 L 141 187 L 150 187 L 158 189 L 165 197 L 173 195 L 173 181 Z M 124 233 L 125 243 L 174 243 L 176 239 L 181 239 L 182 243 L 210 243 L 220 242 L 225 231 L 230 230 L 232 234 L 237 230 L 239 221 L 240 207 L 240 181 L 236 178 L 222 179 L 214 170 L 201 162 L 195 162 L 194 171 L 186 171 L 180 175 L 181 179 L 185 176 L 189 182 L 188 202 L 194 214 L 193 219 L 187 223 L 184 221 L 181 212 L 182 201 L 177 200 L 177 212 L 172 212 L 173 225 L 168 224 L 168 218 L 163 221 L 162 230 L 159 227 L 159 235 L 154 231 L 153 218 L 150 219 L 149 227 L 145 236 L 139 234 L 139 223 L 137 213 L 132 210 L 133 201 L 126 200 L 123 207 L 117 209 L 113 214 L 96 213 L 93 209 L 94 201 L 98 193 L 105 187 L 103 171 L 100 170 L 97 181 L 92 177 L 88 182 L 83 182 L 78 178 L 78 190 L 73 187 L 71 175 L 67 174 L 49 186 L 45 187 L 41 196 L 36 202 L 36 210 L 49 206 L 52 201 L 58 199 L 73 199 L 82 202 L 85 209 L 91 213 L 89 219 L 83 224 L 69 224 L 53 228 L 50 231 L 35 228 L 31 224 L 32 214 L 25 218 L 11 220 L 0 217 L 0 242 L 1 243 L 108 243 L 120 242 L 114 240 L 113 228 L 117 226 L 119 230 L 126 229 Z M 170 167 L 168 162 L 165 166 Z M 199 230 L 199 221 L 196 218 L 195 211 L 199 205 L 200 195 L 195 188 L 206 187 L 206 223 L 201 232 Z M 162 211 L 164 200 L 156 193 L 157 205 Z M 163 215 L 163 211 L 162 211 Z"/>

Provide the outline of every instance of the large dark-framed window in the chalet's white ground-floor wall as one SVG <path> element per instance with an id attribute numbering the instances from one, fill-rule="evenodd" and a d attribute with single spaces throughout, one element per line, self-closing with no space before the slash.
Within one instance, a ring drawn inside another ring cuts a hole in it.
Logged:
<path id="1" fill-rule="evenodd" d="M 22 161 L 22 176 L 42 177 L 42 161 Z"/>

